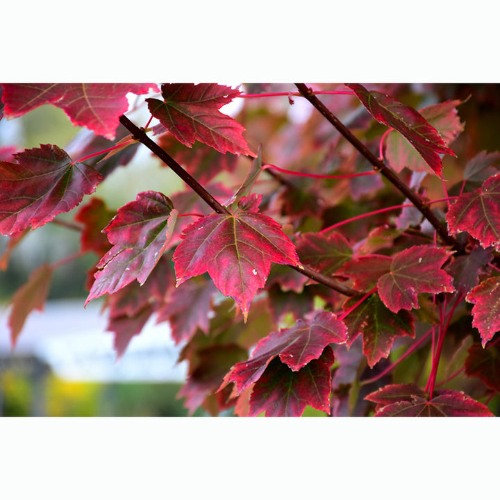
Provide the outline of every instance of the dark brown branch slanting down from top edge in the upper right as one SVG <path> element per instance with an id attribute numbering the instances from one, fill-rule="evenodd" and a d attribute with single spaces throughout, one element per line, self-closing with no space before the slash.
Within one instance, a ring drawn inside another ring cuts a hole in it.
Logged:
<path id="1" fill-rule="evenodd" d="M 434 215 L 431 208 L 424 204 L 424 201 L 411 190 L 408 185 L 403 183 L 401 179 L 392 172 L 392 169 L 387 167 L 383 161 L 379 160 L 372 151 L 370 151 L 363 142 L 360 142 L 353 133 L 347 128 L 340 120 L 331 113 L 331 111 L 326 108 L 324 103 L 320 101 L 314 94 L 313 90 L 308 88 L 303 83 L 295 84 L 299 89 L 299 92 L 305 97 L 313 106 L 330 122 L 352 145 L 355 147 L 365 158 L 373 165 L 373 167 L 380 172 L 385 178 L 387 178 L 392 185 L 394 185 L 399 191 L 401 191 L 406 198 L 408 198 L 417 208 L 422 215 L 430 222 L 437 233 L 440 235 L 442 240 L 447 244 L 455 247 L 456 249 L 462 249 L 461 245 L 456 241 L 453 236 L 449 235 L 446 226 L 440 222 L 439 219 Z"/>

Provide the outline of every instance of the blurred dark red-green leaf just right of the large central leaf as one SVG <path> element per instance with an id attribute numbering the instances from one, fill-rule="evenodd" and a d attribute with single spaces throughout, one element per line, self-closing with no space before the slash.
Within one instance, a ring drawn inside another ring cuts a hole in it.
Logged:
<path id="1" fill-rule="evenodd" d="M 305 233 L 296 244 L 301 263 L 331 276 L 353 256 L 352 247 L 340 233 Z"/>

